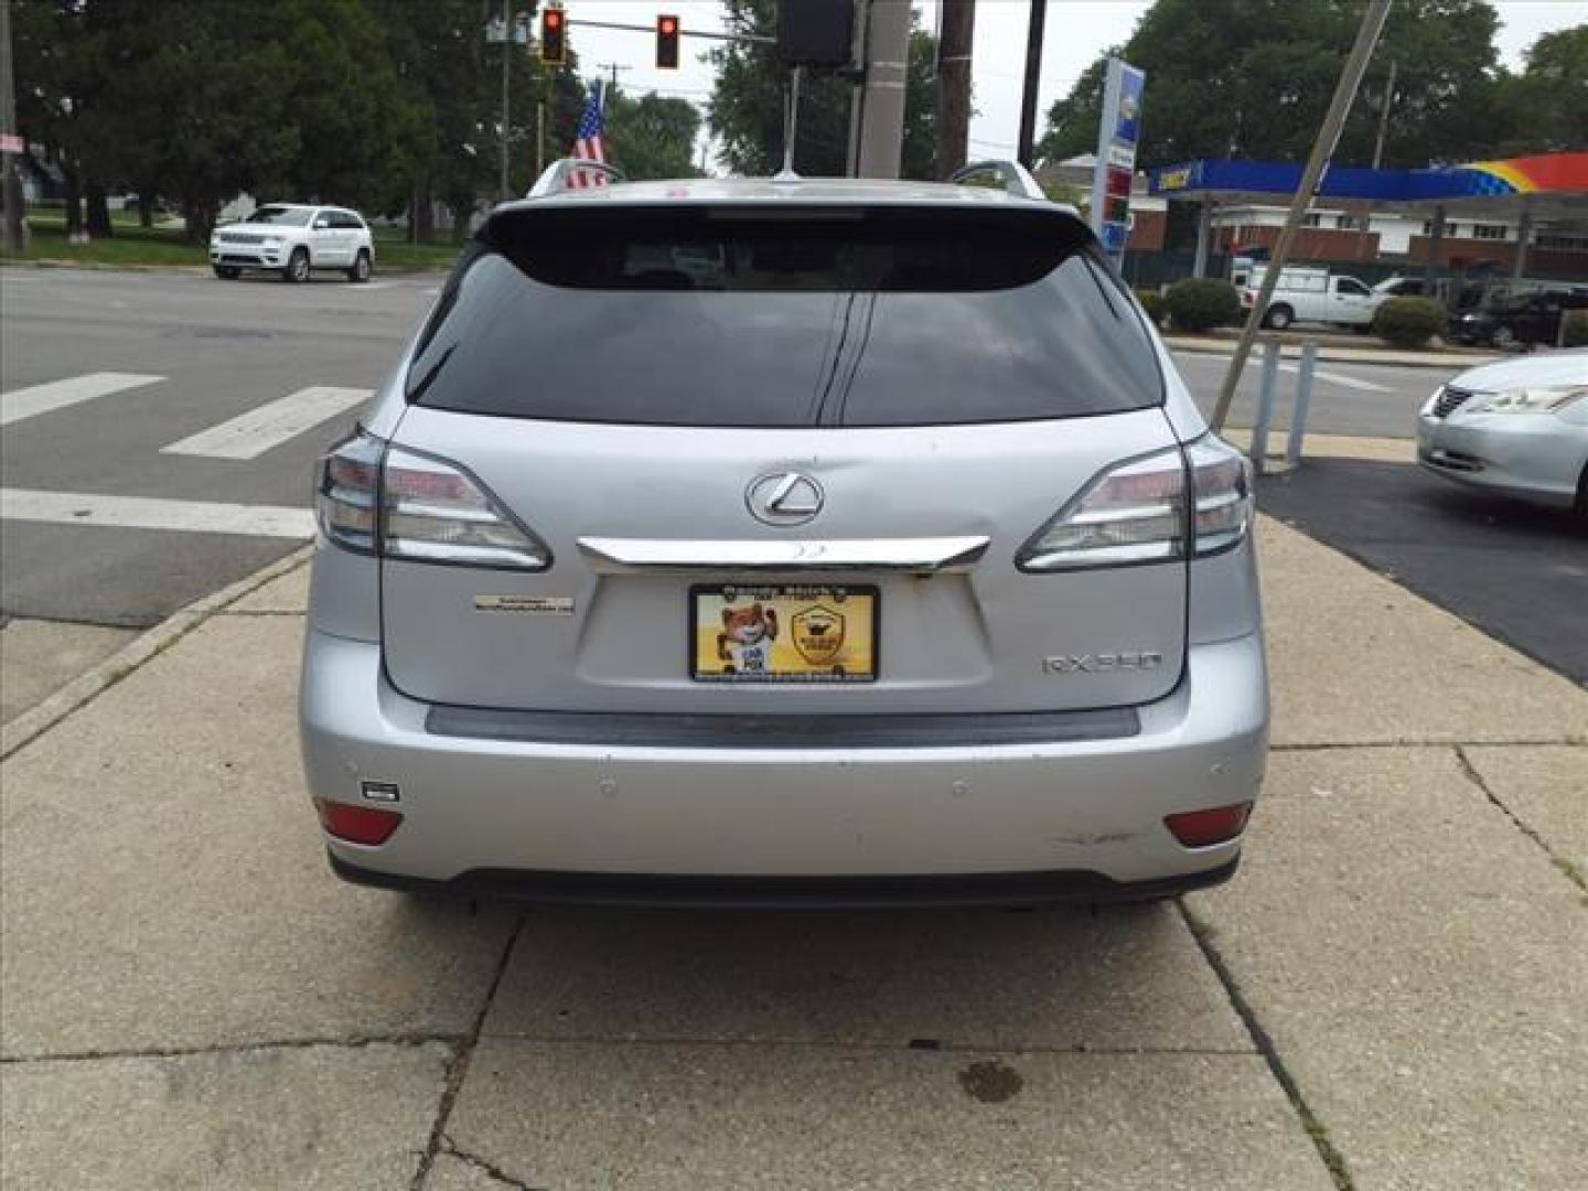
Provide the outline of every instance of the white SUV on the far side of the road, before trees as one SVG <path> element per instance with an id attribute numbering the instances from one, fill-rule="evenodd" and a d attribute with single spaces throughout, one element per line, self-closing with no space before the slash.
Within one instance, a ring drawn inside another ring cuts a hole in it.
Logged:
<path id="1" fill-rule="evenodd" d="M 210 237 L 210 267 L 235 281 L 245 268 L 278 270 L 286 281 L 308 281 L 313 268 L 340 268 L 368 281 L 375 240 L 356 211 L 341 206 L 270 203 Z"/>

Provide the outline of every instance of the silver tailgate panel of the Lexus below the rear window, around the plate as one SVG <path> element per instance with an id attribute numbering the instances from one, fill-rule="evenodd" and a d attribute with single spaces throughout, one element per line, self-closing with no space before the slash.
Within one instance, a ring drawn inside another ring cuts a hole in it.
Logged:
<path id="1" fill-rule="evenodd" d="M 553 553 L 542 573 L 384 564 L 386 665 L 416 699 L 584 711 L 1026 711 L 1140 703 L 1167 694 L 1180 675 L 1185 562 L 1050 575 L 1015 567 L 1024 540 L 1091 476 L 1172 445 L 1159 410 L 792 432 L 413 410 L 399 441 L 467 461 Z M 823 488 L 821 513 L 797 529 L 761 524 L 746 508 L 750 483 L 783 472 Z M 865 549 L 883 557 L 888 543 L 924 538 L 988 546 L 962 570 L 932 575 L 819 565 L 651 572 L 592 557 L 581 538 L 670 546 L 676 559 L 738 549 L 746 562 L 754 545 L 789 542 L 854 543 L 862 559 Z M 691 676 L 692 586 L 823 583 L 878 588 L 873 683 L 723 686 Z M 1043 665 L 1100 654 L 1148 661 Z"/>

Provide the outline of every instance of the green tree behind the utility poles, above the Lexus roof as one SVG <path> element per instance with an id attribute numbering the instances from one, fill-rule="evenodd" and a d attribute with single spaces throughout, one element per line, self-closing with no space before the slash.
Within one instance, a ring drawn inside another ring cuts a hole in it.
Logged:
<path id="1" fill-rule="evenodd" d="M 773 0 L 724 0 L 729 32 L 770 35 Z M 716 67 L 707 118 L 723 143 L 721 156 L 734 173 L 770 175 L 783 167 L 783 94 L 788 71 L 772 46 L 727 43 L 708 51 Z M 910 35 L 905 91 L 904 160 L 907 178 L 932 178 L 935 149 L 937 43 L 923 32 Z M 832 75 L 807 75 L 800 84 L 794 170 L 808 176 L 842 176 L 850 145 L 850 84 Z"/>

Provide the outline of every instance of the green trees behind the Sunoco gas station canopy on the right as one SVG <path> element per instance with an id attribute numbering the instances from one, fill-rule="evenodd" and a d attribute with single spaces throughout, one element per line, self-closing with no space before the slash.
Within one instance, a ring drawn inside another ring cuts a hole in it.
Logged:
<path id="1" fill-rule="evenodd" d="M 1359 19 L 1359 0 L 1158 0 L 1108 51 L 1147 71 L 1142 165 L 1305 159 Z M 1497 27 L 1488 0 L 1397 0 L 1336 160 L 1372 160 L 1391 62 L 1383 165 L 1470 160 L 1507 145 L 1518 113 L 1505 102 L 1512 79 L 1497 62 Z M 1053 105 L 1040 156 L 1059 160 L 1096 148 L 1107 56 Z M 1580 64 L 1580 52 L 1571 60 Z M 1575 81 L 1588 86 L 1580 73 Z"/>

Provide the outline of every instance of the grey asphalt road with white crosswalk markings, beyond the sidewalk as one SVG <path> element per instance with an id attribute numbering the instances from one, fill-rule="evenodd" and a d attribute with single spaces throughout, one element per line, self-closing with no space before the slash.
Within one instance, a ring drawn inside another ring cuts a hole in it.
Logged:
<path id="1" fill-rule="evenodd" d="M 316 456 L 353 424 L 438 286 L 0 272 L 0 613 L 148 626 L 294 549 Z M 1177 359 L 1210 408 L 1224 357 Z M 1232 426 L 1250 421 L 1248 372 Z M 1447 375 L 1324 364 L 1312 429 L 1410 435 Z M 1283 380 L 1288 402 L 1294 373 Z M 1334 521 L 1320 526 L 1351 548 Z M 1440 575 L 1428 594 L 1445 602 L 1458 578 Z"/>

